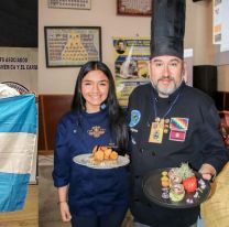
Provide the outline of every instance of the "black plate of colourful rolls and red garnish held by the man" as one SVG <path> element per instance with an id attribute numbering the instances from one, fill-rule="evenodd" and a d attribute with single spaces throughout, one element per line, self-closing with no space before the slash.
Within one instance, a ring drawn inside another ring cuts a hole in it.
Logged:
<path id="1" fill-rule="evenodd" d="M 187 163 L 179 167 L 160 169 L 143 179 L 146 197 L 165 207 L 194 207 L 208 198 L 210 184 Z"/>

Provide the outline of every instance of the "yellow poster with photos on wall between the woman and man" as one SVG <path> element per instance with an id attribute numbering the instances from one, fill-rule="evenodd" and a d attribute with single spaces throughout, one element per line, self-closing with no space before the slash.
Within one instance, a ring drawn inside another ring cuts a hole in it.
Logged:
<path id="1" fill-rule="evenodd" d="M 113 37 L 117 96 L 121 106 L 128 106 L 131 91 L 149 82 L 150 39 Z"/>

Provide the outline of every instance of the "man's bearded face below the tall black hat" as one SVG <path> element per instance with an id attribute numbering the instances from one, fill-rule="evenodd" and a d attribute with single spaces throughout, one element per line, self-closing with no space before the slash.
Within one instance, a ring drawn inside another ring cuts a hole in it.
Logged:
<path id="1" fill-rule="evenodd" d="M 176 56 L 156 56 L 151 60 L 151 83 L 160 97 L 168 97 L 182 84 L 183 61 Z"/>

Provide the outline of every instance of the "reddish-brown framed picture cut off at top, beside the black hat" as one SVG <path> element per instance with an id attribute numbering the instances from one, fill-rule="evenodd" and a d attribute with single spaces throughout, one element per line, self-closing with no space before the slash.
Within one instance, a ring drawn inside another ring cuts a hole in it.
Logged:
<path id="1" fill-rule="evenodd" d="M 152 0 L 117 0 L 117 14 L 151 17 Z"/>

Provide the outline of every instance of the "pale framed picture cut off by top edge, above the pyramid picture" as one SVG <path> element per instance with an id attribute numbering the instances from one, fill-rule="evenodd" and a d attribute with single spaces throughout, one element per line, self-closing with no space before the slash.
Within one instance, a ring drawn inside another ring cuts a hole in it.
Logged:
<path id="1" fill-rule="evenodd" d="M 48 8 L 89 10 L 91 0 L 47 0 Z"/>

